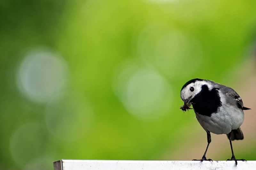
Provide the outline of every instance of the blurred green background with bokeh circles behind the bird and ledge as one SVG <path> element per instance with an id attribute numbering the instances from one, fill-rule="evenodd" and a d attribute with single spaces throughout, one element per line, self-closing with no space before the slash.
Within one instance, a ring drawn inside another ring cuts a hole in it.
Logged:
<path id="1" fill-rule="evenodd" d="M 256 159 L 256 1 L 1 0 L 0 170 L 59 159 L 200 159 L 206 133 L 179 107 L 192 78 L 235 88 L 237 159 Z M 253 90 L 252 90 L 253 89 Z M 254 109 L 255 110 L 255 109 Z M 225 135 L 206 155 L 231 157 Z"/>

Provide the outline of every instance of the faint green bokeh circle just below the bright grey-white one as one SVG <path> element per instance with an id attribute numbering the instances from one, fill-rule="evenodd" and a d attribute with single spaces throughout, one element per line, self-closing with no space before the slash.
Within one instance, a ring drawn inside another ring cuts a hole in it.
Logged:
<path id="1" fill-rule="evenodd" d="M 48 130 L 63 141 L 83 137 L 92 126 L 92 106 L 76 92 L 48 103 L 45 114 Z"/>

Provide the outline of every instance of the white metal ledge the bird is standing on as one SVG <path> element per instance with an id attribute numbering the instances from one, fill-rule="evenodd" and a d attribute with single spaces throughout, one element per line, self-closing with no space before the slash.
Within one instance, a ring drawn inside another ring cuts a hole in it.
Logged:
<path id="1" fill-rule="evenodd" d="M 183 160 L 65 160 L 53 162 L 54 170 L 254 170 L 256 161 Z"/>

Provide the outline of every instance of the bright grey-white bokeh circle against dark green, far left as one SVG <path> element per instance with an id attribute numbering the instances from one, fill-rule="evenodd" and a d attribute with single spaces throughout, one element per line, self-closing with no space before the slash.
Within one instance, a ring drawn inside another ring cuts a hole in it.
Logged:
<path id="1" fill-rule="evenodd" d="M 68 66 L 60 55 L 38 48 L 25 55 L 17 73 L 22 94 L 36 103 L 58 98 L 67 85 Z"/>

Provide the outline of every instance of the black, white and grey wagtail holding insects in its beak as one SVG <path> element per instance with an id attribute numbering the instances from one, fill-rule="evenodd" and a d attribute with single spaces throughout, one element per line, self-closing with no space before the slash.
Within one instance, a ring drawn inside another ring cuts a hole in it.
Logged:
<path id="1" fill-rule="evenodd" d="M 232 140 L 242 140 L 244 135 L 240 129 L 244 121 L 244 111 L 250 108 L 244 107 L 241 97 L 230 87 L 220 85 L 211 80 L 195 78 L 189 80 L 180 91 L 180 98 L 184 105 L 180 107 L 183 111 L 193 106 L 196 119 L 207 133 L 207 146 L 201 161 L 206 159 L 205 155 L 211 143 L 211 133 L 227 134 L 230 142 L 232 157 L 228 160 L 245 161 L 236 159 Z M 197 160 L 197 159 L 194 159 Z"/>

